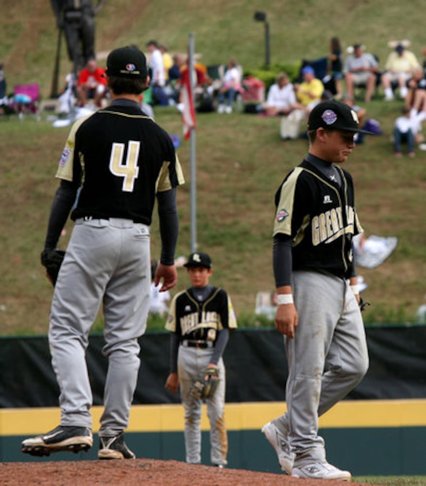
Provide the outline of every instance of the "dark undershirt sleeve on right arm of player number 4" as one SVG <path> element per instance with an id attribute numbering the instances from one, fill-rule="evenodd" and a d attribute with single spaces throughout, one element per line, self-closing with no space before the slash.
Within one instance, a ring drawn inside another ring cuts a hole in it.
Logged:
<path id="1" fill-rule="evenodd" d="M 157 193 L 158 215 L 160 218 L 161 256 L 163 265 L 175 263 L 178 232 L 176 188 Z"/>

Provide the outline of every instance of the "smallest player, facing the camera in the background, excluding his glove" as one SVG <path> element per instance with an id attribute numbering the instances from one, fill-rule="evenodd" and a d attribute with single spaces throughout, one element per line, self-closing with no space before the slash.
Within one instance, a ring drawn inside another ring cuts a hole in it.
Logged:
<path id="1" fill-rule="evenodd" d="M 201 463 L 201 400 L 191 388 L 206 367 L 219 371 L 213 397 L 206 399 L 210 421 L 210 460 L 214 466 L 227 464 L 228 435 L 225 427 L 225 365 L 222 355 L 229 331 L 237 327 L 231 298 L 209 283 L 212 260 L 207 253 L 192 253 L 185 263 L 192 286 L 175 295 L 170 305 L 166 329 L 171 331 L 170 374 L 165 387 L 177 393 L 185 409 L 186 462 Z"/>

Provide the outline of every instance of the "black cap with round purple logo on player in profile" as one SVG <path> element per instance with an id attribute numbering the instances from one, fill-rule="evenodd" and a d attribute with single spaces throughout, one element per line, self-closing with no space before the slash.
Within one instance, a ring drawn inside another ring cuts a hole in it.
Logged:
<path id="1" fill-rule="evenodd" d="M 308 130 L 316 130 L 320 127 L 375 135 L 373 132 L 361 130 L 355 110 L 336 100 L 323 101 L 309 113 Z"/>

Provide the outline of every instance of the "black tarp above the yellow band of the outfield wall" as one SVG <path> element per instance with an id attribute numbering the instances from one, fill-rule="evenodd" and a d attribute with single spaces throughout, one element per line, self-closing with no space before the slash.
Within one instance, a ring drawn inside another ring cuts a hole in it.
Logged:
<path id="1" fill-rule="evenodd" d="M 348 399 L 426 398 L 426 326 L 367 328 L 370 368 Z M 169 334 L 140 340 L 141 369 L 134 403 L 178 403 L 164 389 Z M 93 404 L 102 405 L 106 359 L 101 335 L 87 350 Z M 225 350 L 227 402 L 284 401 L 287 363 L 283 337 L 273 329 L 236 330 Z M 55 407 L 59 388 L 46 336 L 0 338 L 0 407 Z"/>

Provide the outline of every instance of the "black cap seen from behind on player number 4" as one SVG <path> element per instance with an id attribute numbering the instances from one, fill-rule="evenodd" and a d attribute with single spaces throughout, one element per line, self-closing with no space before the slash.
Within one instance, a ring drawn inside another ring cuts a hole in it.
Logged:
<path id="1" fill-rule="evenodd" d="M 145 54 L 128 46 L 114 49 L 106 58 L 105 73 L 119 78 L 144 79 L 148 75 Z"/>

